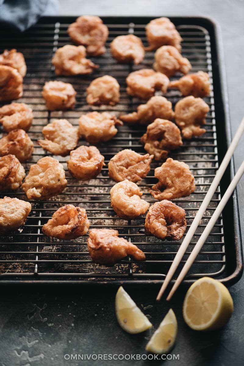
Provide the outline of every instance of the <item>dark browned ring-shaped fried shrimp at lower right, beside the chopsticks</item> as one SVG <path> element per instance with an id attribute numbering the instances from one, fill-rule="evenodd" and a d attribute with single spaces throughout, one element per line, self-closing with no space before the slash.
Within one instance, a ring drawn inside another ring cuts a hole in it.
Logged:
<path id="1" fill-rule="evenodd" d="M 145 220 L 145 234 L 159 239 L 180 240 L 186 231 L 186 212 L 175 203 L 163 201 L 154 203 Z"/>

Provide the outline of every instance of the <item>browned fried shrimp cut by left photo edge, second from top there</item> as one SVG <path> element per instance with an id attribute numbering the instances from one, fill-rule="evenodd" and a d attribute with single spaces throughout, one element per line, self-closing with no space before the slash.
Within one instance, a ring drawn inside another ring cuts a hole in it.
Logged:
<path id="1" fill-rule="evenodd" d="M 22 76 L 16 69 L 0 65 L 0 101 L 18 99 L 22 95 Z"/>

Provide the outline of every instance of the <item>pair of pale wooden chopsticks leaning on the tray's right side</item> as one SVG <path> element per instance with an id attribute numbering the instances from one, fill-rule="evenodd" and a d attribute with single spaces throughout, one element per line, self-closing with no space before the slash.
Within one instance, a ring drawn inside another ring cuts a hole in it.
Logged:
<path id="1" fill-rule="evenodd" d="M 179 263 L 183 257 L 183 255 L 185 254 L 187 247 L 192 239 L 192 236 L 195 234 L 195 231 L 199 225 L 199 222 L 202 219 L 202 216 L 204 214 L 204 212 L 207 209 L 207 206 L 209 205 L 209 202 L 211 201 L 211 198 L 213 197 L 216 188 L 218 187 L 218 184 L 220 183 L 220 180 L 230 162 L 230 159 L 232 158 L 232 155 L 236 149 L 236 146 L 238 144 L 238 142 L 240 141 L 240 138 L 242 136 L 244 132 L 244 117 L 240 123 L 240 126 L 238 127 L 236 134 L 232 140 L 232 142 L 230 143 L 230 146 L 225 154 L 224 159 L 222 160 L 222 163 L 220 164 L 219 169 L 216 172 L 216 176 L 213 179 L 213 182 L 211 183 L 209 190 L 205 196 L 205 198 L 203 199 L 203 202 L 194 218 L 194 220 L 192 221 L 192 224 L 182 242 L 182 244 L 179 247 L 179 250 L 174 258 L 174 261 L 172 262 L 169 271 L 167 273 L 167 276 L 165 277 L 164 283 L 159 291 L 159 294 L 157 295 L 157 300 L 161 299 L 161 296 L 163 295 L 164 291 L 166 290 L 169 282 L 171 281 L 176 269 L 179 266 Z M 201 250 L 203 244 L 205 243 L 205 240 L 207 239 L 211 229 L 213 228 L 214 224 L 216 223 L 218 217 L 220 216 L 222 210 L 224 209 L 228 199 L 230 198 L 231 194 L 233 193 L 237 183 L 239 182 L 241 176 L 244 173 L 244 161 L 241 164 L 240 168 L 238 169 L 235 177 L 233 178 L 232 182 L 230 183 L 229 187 L 227 188 L 224 196 L 222 197 L 220 203 L 218 204 L 216 210 L 214 211 L 213 216 L 211 217 L 211 219 L 209 220 L 207 226 L 205 227 L 202 235 L 200 236 L 198 242 L 195 244 L 194 249 L 192 250 L 190 256 L 188 257 L 186 263 L 184 264 L 177 280 L 174 283 L 174 286 L 172 287 L 171 291 L 169 292 L 169 295 L 167 297 L 166 300 L 170 300 L 171 297 L 174 295 L 175 291 L 177 290 L 179 284 L 181 283 L 181 281 L 184 279 L 184 277 L 186 276 L 188 270 L 190 269 L 192 263 L 194 262 L 194 260 L 196 259 L 199 251 Z"/>

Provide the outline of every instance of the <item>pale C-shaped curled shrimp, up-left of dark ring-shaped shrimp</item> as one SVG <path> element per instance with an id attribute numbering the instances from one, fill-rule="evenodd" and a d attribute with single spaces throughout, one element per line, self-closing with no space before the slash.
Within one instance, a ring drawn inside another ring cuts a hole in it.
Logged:
<path id="1" fill-rule="evenodd" d="M 110 190 L 111 207 L 122 219 L 132 220 L 144 214 L 149 203 L 141 199 L 142 192 L 136 183 L 128 179 L 116 183 Z"/>

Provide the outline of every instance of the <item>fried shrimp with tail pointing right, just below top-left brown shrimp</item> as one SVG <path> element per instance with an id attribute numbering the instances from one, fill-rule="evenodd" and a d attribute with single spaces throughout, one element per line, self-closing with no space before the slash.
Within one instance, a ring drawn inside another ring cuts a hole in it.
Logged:
<path id="1" fill-rule="evenodd" d="M 91 60 L 85 58 L 84 46 L 65 45 L 58 48 L 52 59 L 56 75 L 84 75 L 98 68 Z"/>

